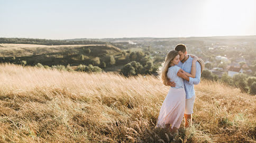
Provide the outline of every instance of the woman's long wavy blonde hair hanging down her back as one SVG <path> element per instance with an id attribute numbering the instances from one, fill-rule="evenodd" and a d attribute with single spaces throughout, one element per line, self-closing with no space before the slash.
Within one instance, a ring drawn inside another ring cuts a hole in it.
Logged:
<path id="1" fill-rule="evenodd" d="M 167 56 L 166 56 L 166 60 L 163 63 L 163 67 L 161 70 L 161 79 L 164 85 L 167 86 L 168 83 L 168 78 L 167 78 L 167 72 L 168 72 L 168 68 L 170 67 L 170 64 L 172 62 L 172 60 L 179 55 L 179 53 L 176 50 L 171 50 Z"/>

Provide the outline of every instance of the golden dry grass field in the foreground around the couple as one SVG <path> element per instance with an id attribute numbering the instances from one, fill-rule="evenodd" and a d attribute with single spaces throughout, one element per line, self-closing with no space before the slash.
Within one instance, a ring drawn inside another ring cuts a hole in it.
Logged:
<path id="1" fill-rule="evenodd" d="M 0 142 L 256 142 L 256 97 L 221 83 L 195 86 L 194 124 L 156 128 L 169 87 L 125 78 L 0 65 Z"/>

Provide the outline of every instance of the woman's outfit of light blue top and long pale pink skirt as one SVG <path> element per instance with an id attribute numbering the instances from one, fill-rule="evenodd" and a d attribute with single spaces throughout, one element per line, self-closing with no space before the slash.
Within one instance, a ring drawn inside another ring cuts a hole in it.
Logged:
<path id="1" fill-rule="evenodd" d="M 167 76 L 171 81 L 175 81 L 176 87 L 170 87 L 163 101 L 157 127 L 165 127 L 165 124 L 170 124 L 171 128 L 180 127 L 185 112 L 186 93 L 183 79 L 177 76 L 179 68 L 178 66 L 172 66 L 168 69 Z"/>

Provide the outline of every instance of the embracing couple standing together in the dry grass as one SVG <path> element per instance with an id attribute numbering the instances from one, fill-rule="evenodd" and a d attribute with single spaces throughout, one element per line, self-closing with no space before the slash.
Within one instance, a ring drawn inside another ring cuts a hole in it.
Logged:
<path id="1" fill-rule="evenodd" d="M 184 44 L 178 44 L 171 50 L 161 70 L 163 84 L 171 86 L 163 101 L 158 117 L 158 127 L 176 132 L 183 116 L 185 127 L 192 123 L 195 102 L 194 85 L 199 84 L 204 68 L 202 59 L 188 55 Z"/>

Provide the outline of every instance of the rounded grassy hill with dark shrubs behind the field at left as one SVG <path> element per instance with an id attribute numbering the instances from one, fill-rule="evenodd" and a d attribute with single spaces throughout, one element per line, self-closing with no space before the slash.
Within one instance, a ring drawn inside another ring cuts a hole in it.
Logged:
<path id="1" fill-rule="evenodd" d="M 111 45 L 34 45 L 34 44 L 0 44 L 2 63 L 26 65 L 68 65 L 94 64 L 105 62 L 109 65 L 109 56 L 116 60 L 116 66 L 124 63 L 122 50 Z M 97 61 L 99 60 L 99 61 Z M 96 62 L 95 62 L 96 61 Z"/>

